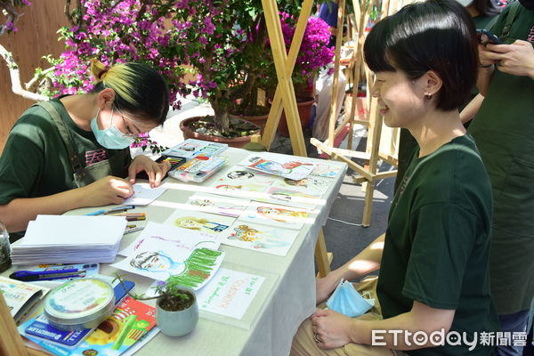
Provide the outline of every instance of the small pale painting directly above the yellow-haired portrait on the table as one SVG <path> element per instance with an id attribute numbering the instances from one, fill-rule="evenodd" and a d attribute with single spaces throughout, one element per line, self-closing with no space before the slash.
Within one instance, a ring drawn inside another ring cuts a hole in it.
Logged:
<path id="1" fill-rule="evenodd" d="M 238 217 L 250 203 L 248 199 L 196 193 L 187 200 L 190 211 Z"/>

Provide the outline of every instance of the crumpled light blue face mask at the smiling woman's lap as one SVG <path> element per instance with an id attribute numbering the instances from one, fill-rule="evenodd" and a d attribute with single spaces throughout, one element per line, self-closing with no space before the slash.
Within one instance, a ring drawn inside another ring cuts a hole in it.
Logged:
<path id="1" fill-rule="evenodd" d="M 370 294 L 367 293 L 369 296 Z M 346 280 L 341 280 L 327 301 L 328 309 L 354 318 L 375 306 L 375 299 L 366 299 Z"/>

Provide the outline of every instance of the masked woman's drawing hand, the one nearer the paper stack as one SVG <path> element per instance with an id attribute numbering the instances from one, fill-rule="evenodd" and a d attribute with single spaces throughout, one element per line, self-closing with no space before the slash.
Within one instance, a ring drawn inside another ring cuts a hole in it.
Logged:
<path id="1" fill-rule="evenodd" d="M 125 179 L 108 175 L 80 188 L 83 190 L 84 206 L 107 206 L 122 204 L 125 198 L 134 194 L 134 188 Z"/>

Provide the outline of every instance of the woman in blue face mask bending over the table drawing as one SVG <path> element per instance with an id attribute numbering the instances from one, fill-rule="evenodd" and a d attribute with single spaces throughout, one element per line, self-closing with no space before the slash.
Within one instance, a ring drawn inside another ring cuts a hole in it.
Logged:
<path id="1" fill-rule="evenodd" d="M 169 169 L 129 152 L 136 134 L 166 119 L 163 77 L 139 63 L 106 68 L 92 61 L 91 71 L 90 93 L 39 102 L 12 127 L 0 157 L 0 216 L 8 231 L 25 231 L 37 214 L 122 204 L 137 173 L 145 171 L 155 187 Z"/>

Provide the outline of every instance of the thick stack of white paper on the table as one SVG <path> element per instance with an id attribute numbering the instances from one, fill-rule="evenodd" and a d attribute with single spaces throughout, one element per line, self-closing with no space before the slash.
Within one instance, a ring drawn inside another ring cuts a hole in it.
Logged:
<path id="1" fill-rule="evenodd" d="M 12 245 L 12 263 L 113 262 L 126 223 L 124 216 L 37 215 Z"/>

